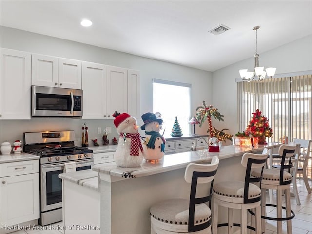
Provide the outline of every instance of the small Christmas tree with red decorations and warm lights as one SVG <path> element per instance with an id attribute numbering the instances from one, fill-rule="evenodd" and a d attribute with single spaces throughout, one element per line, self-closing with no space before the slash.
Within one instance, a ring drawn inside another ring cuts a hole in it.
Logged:
<path id="1" fill-rule="evenodd" d="M 245 130 L 246 135 L 253 135 L 254 137 L 272 137 L 272 128 L 269 126 L 267 117 L 261 115 L 262 112 L 257 109 L 250 118 L 249 124 Z"/>

